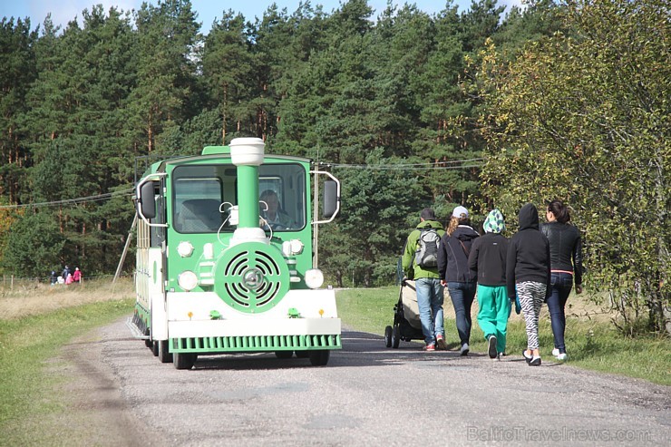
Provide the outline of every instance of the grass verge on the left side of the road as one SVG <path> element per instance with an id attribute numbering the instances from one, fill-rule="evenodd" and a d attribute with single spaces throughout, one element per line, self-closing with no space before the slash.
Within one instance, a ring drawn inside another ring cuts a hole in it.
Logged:
<path id="1" fill-rule="evenodd" d="M 68 411 L 57 390 L 66 381 L 50 362 L 74 337 L 132 312 L 134 300 L 63 307 L 37 316 L 0 320 L 0 438 L 4 445 L 66 445 L 63 428 L 50 428 Z"/>

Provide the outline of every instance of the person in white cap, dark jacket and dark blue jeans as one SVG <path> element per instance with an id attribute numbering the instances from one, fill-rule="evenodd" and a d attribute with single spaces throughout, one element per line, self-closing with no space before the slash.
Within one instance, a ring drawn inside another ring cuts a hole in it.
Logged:
<path id="1" fill-rule="evenodd" d="M 468 355 L 470 349 L 471 306 L 475 297 L 475 275 L 468 267 L 468 256 L 473 240 L 479 236 L 471 227 L 468 209 L 456 207 L 438 246 L 438 275 L 442 286 L 450 291 L 462 355 Z"/>

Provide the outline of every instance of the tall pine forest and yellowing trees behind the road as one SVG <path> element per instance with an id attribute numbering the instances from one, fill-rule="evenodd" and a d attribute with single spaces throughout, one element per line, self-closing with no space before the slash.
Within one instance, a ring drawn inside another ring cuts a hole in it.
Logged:
<path id="1" fill-rule="evenodd" d="M 258 137 L 342 181 L 319 232 L 334 286 L 392 284 L 424 207 L 476 229 L 496 207 L 511 236 L 524 203 L 561 199 L 586 281 L 671 328 L 668 0 L 317 4 L 207 34 L 188 0 L 4 17 L 2 273 L 113 274 L 148 162 Z"/>

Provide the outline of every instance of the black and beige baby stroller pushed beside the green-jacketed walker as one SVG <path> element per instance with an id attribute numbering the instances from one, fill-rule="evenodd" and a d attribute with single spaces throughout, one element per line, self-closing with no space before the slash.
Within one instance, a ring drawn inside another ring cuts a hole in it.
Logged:
<path id="1" fill-rule="evenodd" d="M 394 326 L 384 328 L 384 344 L 387 347 L 397 348 L 401 340 L 409 342 L 423 339 L 414 281 L 403 279 L 398 302 L 394 305 Z"/>

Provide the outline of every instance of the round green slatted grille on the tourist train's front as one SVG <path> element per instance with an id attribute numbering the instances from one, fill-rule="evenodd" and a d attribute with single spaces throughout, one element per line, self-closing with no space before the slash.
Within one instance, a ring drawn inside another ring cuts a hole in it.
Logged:
<path id="1" fill-rule="evenodd" d="M 287 294 L 287 263 L 273 246 L 244 242 L 219 258 L 214 284 L 217 295 L 240 312 L 266 312 Z"/>

